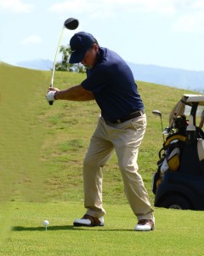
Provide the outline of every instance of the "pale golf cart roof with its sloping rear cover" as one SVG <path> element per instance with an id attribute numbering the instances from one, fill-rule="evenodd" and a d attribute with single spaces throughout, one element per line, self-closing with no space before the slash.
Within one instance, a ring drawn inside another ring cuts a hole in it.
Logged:
<path id="1" fill-rule="evenodd" d="M 204 106 L 204 95 L 184 94 L 169 115 L 169 126 L 178 115 L 184 114 L 186 106 L 192 106 L 195 102 L 198 102 L 198 106 Z"/>

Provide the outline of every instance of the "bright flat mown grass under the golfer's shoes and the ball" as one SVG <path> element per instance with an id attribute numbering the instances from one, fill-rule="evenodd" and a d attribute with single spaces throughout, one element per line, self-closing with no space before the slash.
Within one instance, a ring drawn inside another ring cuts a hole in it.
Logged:
<path id="1" fill-rule="evenodd" d="M 105 227 L 73 227 L 73 202 L 9 203 L 11 231 L 0 255 L 203 255 L 201 212 L 156 209 L 156 230 L 135 232 L 126 205 L 105 205 Z M 42 226 L 48 219 L 48 230 Z"/>

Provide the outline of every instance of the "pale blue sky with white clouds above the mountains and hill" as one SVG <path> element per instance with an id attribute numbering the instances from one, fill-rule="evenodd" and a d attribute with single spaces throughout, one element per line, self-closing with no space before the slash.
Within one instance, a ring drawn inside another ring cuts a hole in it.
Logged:
<path id="1" fill-rule="evenodd" d="M 62 45 L 85 31 L 125 61 L 204 71 L 203 0 L 0 0 L 0 61 L 54 61 L 70 17 Z"/>

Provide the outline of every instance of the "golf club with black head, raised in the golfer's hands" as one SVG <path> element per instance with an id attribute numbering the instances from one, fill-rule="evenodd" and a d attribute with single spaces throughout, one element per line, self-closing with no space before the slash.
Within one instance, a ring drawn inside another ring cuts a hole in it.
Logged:
<path id="1" fill-rule="evenodd" d="M 56 50 L 55 57 L 54 57 L 54 65 L 53 65 L 51 84 L 49 86 L 50 88 L 53 88 L 53 84 L 54 84 L 54 70 L 55 70 L 57 55 L 58 55 L 58 52 L 59 52 L 59 44 L 61 44 L 61 39 L 62 39 L 64 29 L 66 27 L 69 30 L 75 30 L 78 27 L 78 25 L 79 25 L 79 22 L 75 18 L 69 18 L 69 19 L 65 20 L 65 22 L 64 22 L 64 25 L 62 27 L 62 31 L 61 31 L 61 34 L 60 34 L 60 38 L 59 38 L 59 43 L 58 43 L 57 50 Z M 53 102 L 49 102 L 49 105 L 53 105 Z"/>

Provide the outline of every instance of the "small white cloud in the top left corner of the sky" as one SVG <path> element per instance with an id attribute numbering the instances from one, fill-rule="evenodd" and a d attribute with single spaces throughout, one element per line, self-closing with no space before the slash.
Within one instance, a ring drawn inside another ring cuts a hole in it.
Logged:
<path id="1" fill-rule="evenodd" d="M 0 0 L 0 10 L 9 13 L 30 13 L 34 8 L 34 4 L 23 3 L 21 0 Z"/>

